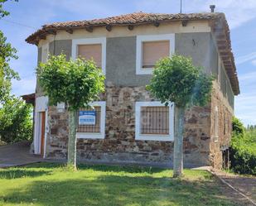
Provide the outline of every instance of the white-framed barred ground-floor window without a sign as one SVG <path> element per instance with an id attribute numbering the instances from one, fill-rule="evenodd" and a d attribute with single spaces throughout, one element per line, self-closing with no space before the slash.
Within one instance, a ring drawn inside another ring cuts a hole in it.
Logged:
<path id="1" fill-rule="evenodd" d="M 135 140 L 173 141 L 174 104 L 135 103 Z"/>

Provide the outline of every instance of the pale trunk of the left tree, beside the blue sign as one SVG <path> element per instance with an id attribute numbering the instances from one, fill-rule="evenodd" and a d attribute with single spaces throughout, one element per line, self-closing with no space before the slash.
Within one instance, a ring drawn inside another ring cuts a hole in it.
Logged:
<path id="1" fill-rule="evenodd" d="M 76 111 L 69 111 L 68 166 L 76 169 Z"/>

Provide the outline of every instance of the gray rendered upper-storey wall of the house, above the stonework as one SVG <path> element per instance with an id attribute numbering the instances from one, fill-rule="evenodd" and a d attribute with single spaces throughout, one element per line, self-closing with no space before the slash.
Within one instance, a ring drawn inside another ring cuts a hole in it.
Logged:
<path id="1" fill-rule="evenodd" d="M 70 59 L 72 40 L 51 41 L 49 52 L 60 55 L 63 52 Z M 208 74 L 218 72 L 218 53 L 210 32 L 176 33 L 175 52 L 192 58 L 196 66 L 201 66 Z M 41 48 L 38 49 L 41 61 Z M 225 89 L 225 71 L 221 69 L 221 90 Z M 150 83 L 151 74 L 136 74 L 136 36 L 107 38 L 106 83 L 116 86 L 144 86 Z M 230 85 L 228 85 L 230 87 Z M 234 94 L 228 92 L 229 103 L 234 102 Z"/>

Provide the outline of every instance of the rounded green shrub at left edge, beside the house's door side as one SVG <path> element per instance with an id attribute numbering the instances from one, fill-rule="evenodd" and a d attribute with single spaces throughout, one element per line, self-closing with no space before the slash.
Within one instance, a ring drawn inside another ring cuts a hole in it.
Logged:
<path id="1" fill-rule="evenodd" d="M 0 108 L 0 139 L 7 143 L 31 140 L 32 107 L 22 99 L 8 98 Z"/>

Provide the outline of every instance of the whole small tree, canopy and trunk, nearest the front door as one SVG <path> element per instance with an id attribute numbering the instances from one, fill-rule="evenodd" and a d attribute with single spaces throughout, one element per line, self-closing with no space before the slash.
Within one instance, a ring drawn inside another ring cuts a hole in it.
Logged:
<path id="1" fill-rule="evenodd" d="M 77 111 L 88 107 L 104 92 L 104 74 L 93 60 L 66 60 L 65 55 L 51 55 L 37 69 L 39 84 L 50 104 L 63 102 L 69 111 L 68 165 L 76 168 Z"/>

